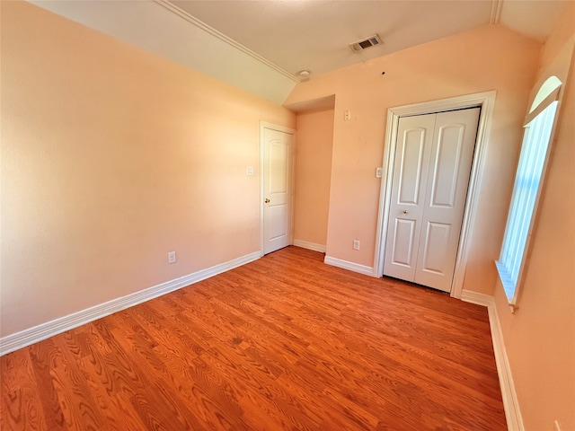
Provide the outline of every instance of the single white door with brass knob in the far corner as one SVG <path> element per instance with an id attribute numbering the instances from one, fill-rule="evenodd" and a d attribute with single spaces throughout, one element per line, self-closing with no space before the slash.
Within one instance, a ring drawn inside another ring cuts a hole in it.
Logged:
<path id="1" fill-rule="evenodd" d="M 262 129 L 263 139 L 263 254 L 291 242 L 291 159 L 293 135 Z"/>

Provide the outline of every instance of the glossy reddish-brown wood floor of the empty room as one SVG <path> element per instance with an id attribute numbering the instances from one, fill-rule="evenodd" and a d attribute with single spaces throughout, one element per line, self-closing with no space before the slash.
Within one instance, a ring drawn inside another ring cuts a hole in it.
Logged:
<path id="1" fill-rule="evenodd" d="M 7 430 L 504 430 L 487 310 L 296 247 L 0 358 Z"/>

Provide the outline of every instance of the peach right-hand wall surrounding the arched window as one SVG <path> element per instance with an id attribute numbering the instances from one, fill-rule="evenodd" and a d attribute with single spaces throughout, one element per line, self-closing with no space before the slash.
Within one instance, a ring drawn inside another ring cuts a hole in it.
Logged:
<path id="1" fill-rule="evenodd" d="M 575 4 L 545 43 L 537 83 L 565 83 L 548 174 L 515 314 L 495 300 L 526 431 L 575 430 Z M 570 72 L 571 66 L 571 72 Z M 562 75 L 563 73 L 563 75 Z M 538 89 L 535 85 L 535 90 Z"/>

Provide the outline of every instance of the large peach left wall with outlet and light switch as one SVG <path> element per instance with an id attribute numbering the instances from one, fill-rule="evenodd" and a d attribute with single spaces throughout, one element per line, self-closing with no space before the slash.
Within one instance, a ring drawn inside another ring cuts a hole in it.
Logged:
<path id="1" fill-rule="evenodd" d="M 23 2 L 1 72 L 2 336 L 260 250 L 259 122 L 293 113 Z"/>

